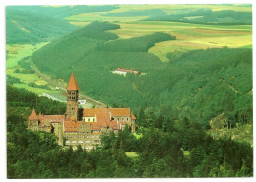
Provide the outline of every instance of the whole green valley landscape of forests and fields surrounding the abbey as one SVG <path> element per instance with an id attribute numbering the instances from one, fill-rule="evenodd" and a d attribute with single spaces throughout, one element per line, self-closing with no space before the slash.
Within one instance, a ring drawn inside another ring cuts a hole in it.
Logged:
<path id="1" fill-rule="evenodd" d="M 251 5 L 14 6 L 6 20 L 9 176 L 253 175 Z M 128 107 L 136 133 L 85 152 L 26 130 L 33 108 L 64 114 L 43 94 L 65 101 L 72 72 L 83 107 Z"/>

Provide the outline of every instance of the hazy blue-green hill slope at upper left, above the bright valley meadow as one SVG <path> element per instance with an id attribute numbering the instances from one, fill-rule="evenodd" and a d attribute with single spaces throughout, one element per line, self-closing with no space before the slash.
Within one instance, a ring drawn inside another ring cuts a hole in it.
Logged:
<path id="1" fill-rule="evenodd" d="M 7 44 L 51 41 L 76 29 L 63 19 L 6 9 Z"/>

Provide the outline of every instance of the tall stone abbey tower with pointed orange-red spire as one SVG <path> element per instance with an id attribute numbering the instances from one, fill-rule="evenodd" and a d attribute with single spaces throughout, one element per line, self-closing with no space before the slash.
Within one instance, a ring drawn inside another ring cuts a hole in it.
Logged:
<path id="1" fill-rule="evenodd" d="M 78 120 L 78 83 L 76 81 L 75 75 L 72 72 L 69 83 L 67 86 L 67 117 L 70 117 L 71 120 Z"/>

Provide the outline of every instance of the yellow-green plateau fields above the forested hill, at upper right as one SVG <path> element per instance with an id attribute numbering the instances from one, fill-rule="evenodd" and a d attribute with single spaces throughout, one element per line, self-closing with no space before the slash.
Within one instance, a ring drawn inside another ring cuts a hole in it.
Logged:
<path id="1" fill-rule="evenodd" d="M 152 6 L 118 6 L 119 9 L 110 13 L 120 16 L 108 16 L 109 13 L 96 12 L 84 13 L 67 17 L 71 24 L 85 26 L 93 21 L 109 21 L 120 25 L 120 29 L 109 30 L 119 38 L 127 39 L 149 35 L 154 32 L 170 33 L 176 36 L 177 41 L 156 43 L 149 49 L 160 58 L 162 62 L 168 62 L 168 52 L 187 52 L 194 49 L 221 48 L 224 46 L 238 48 L 252 45 L 251 25 L 205 25 L 164 21 L 140 21 L 148 16 L 121 16 L 125 12 L 139 12 L 152 9 Z M 160 9 L 167 14 L 179 13 L 186 10 L 186 5 L 156 5 L 154 9 Z M 250 12 L 251 7 L 226 6 L 226 5 L 190 5 L 190 8 L 208 8 L 212 11 L 231 10 L 237 12 Z M 193 17 L 192 17 L 193 18 Z"/>

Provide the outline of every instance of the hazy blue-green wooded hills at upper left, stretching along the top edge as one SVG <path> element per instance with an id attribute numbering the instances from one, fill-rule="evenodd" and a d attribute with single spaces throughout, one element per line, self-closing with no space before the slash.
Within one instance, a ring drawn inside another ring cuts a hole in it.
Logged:
<path id="1" fill-rule="evenodd" d="M 64 18 L 81 13 L 107 12 L 114 6 L 7 6 L 6 42 L 38 43 L 52 41 L 76 30 Z"/>

